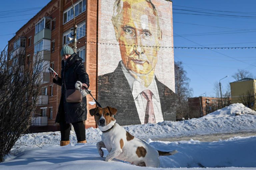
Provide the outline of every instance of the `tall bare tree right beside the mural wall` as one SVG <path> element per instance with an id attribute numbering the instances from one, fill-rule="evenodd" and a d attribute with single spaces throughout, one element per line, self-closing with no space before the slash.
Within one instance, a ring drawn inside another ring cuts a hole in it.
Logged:
<path id="1" fill-rule="evenodd" d="M 174 63 L 175 70 L 175 93 L 178 98 L 178 107 L 176 110 L 176 118 L 189 118 L 188 115 L 188 98 L 192 96 L 193 90 L 189 87 L 190 79 L 184 70 L 182 62 Z"/>

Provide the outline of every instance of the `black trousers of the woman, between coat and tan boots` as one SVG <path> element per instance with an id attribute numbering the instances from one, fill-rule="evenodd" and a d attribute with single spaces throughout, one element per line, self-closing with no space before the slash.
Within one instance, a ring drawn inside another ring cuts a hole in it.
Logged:
<path id="1" fill-rule="evenodd" d="M 84 127 L 84 122 L 79 121 L 72 123 L 74 130 L 76 132 L 76 138 L 77 141 L 83 141 L 85 140 L 85 127 Z M 61 140 L 62 141 L 67 141 L 69 140 L 69 134 L 70 134 L 70 124 L 66 124 L 64 122 L 60 122 L 60 134 L 61 134 Z"/>

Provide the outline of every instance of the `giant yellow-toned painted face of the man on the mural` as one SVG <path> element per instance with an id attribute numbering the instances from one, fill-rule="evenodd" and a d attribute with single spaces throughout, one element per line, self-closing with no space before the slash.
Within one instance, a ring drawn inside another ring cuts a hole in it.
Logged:
<path id="1" fill-rule="evenodd" d="M 146 0 L 121 0 L 119 23 L 113 21 L 116 38 L 125 67 L 136 74 L 154 72 L 157 48 L 162 33 L 158 16 L 151 2 Z M 121 45 L 126 44 L 126 45 Z"/>

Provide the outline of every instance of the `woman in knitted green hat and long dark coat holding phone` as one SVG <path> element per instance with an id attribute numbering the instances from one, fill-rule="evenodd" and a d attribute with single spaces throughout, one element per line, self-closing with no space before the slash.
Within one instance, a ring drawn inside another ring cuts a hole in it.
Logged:
<path id="1" fill-rule="evenodd" d="M 61 99 L 56 117 L 56 123 L 60 124 L 60 145 L 65 146 L 70 142 L 70 123 L 73 125 L 76 132 L 77 142 L 86 143 L 85 127 L 83 123 L 83 121 L 87 119 L 86 97 L 84 97 L 80 103 L 68 103 L 66 101 L 65 93 L 66 89 L 75 89 L 76 81 L 82 82 L 83 86 L 88 88 L 89 76 L 82 63 L 83 59 L 74 53 L 70 46 L 63 46 L 61 49 L 61 56 L 61 78 L 53 75 L 53 83 L 61 86 Z M 82 89 L 84 88 L 82 87 Z"/>

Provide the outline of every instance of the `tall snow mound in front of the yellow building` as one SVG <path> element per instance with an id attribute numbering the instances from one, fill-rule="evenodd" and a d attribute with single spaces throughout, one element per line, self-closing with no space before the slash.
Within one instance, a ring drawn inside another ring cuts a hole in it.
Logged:
<path id="1" fill-rule="evenodd" d="M 242 103 L 236 103 L 236 104 L 229 105 L 225 108 L 216 110 L 215 112 L 209 113 L 203 118 L 208 120 L 208 119 L 213 119 L 218 117 L 227 117 L 227 116 L 235 116 L 235 115 L 242 115 L 242 114 L 256 115 L 256 111 L 245 107 Z"/>

